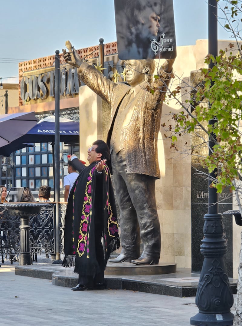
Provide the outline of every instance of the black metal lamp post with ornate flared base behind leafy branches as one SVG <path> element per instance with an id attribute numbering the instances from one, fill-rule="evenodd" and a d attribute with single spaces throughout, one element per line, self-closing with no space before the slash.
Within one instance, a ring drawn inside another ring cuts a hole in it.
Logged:
<path id="1" fill-rule="evenodd" d="M 217 0 L 208 0 L 208 53 L 218 55 L 218 4 Z M 209 64 L 209 68 L 213 63 Z M 210 105 L 210 104 L 209 104 Z M 216 117 L 209 121 L 213 125 Z M 214 136 L 214 135 L 213 135 Z M 214 142 L 209 137 L 209 155 L 212 154 Z M 208 214 L 204 216 L 204 238 L 201 253 L 204 256 L 196 293 L 196 305 L 199 313 L 190 319 L 191 325 L 233 325 L 234 315 L 230 312 L 234 298 L 229 284 L 223 256 L 227 251 L 222 214 L 218 213 L 218 194 L 211 188 L 217 169 L 209 175 L 208 181 Z"/>

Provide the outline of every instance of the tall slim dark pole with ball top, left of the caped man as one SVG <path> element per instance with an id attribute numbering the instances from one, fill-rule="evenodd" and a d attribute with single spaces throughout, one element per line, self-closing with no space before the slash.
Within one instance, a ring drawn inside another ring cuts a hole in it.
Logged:
<path id="1" fill-rule="evenodd" d="M 55 146 L 54 146 L 54 187 L 55 187 L 55 252 L 53 264 L 62 263 L 59 238 L 59 202 L 60 202 L 60 51 L 55 51 Z"/>

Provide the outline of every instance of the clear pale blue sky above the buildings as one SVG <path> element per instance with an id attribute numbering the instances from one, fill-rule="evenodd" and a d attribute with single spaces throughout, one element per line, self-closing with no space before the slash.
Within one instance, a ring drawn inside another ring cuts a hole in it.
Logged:
<path id="1" fill-rule="evenodd" d="M 173 4 L 177 45 L 206 39 L 207 0 Z M 67 39 L 76 49 L 97 45 L 101 37 L 105 43 L 116 41 L 114 0 L 3 1 L 0 37 L 0 77 L 2 82 L 16 82 L 5 78 L 18 76 L 18 62 L 62 52 Z M 218 38 L 229 39 L 229 34 L 219 27 Z"/>

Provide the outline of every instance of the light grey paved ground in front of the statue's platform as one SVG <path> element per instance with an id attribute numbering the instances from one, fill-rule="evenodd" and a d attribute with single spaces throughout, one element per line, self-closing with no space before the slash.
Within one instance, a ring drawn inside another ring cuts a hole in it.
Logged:
<path id="1" fill-rule="evenodd" d="M 50 261 L 41 256 L 38 262 Z M 10 265 L 6 260 L 1 265 L 0 325 L 4 326 L 188 326 L 198 313 L 195 297 L 113 289 L 74 292 L 50 280 L 15 275 L 18 262 Z"/>

